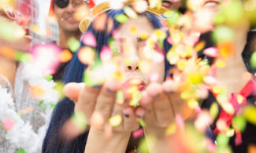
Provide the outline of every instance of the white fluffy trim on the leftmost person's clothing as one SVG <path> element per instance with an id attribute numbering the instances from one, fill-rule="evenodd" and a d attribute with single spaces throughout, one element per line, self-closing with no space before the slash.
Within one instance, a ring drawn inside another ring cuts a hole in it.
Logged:
<path id="1" fill-rule="evenodd" d="M 58 92 L 53 89 L 56 84 L 53 81 L 46 81 L 43 75 L 39 75 L 40 72 L 35 71 L 36 69 L 32 65 L 22 66 L 21 69 L 24 75 L 22 75 L 19 81 L 27 81 L 29 86 L 40 86 L 46 91 L 43 97 L 39 97 L 39 101 L 44 100 L 43 107 L 45 109 L 41 112 L 41 116 L 45 119 L 45 125 L 38 129 L 38 133 L 35 133 L 31 123 L 24 121 L 16 111 L 17 103 L 13 102 L 12 93 L 10 93 L 5 86 L 0 86 L 0 121 L 2 122 L 4 119 L 8 118 L 14 122 L 14 126 L 6 131 L 5 135 L 9 144 L 14 144 L 17 149 L 24 149 L 27 153 L 31 153 L 41 149 L 43 137 L 52 112 L 50 105 L 58 102 Z M 19 93 L 19 91 L 22 89 L 24 89 L 24 86 L 21 86 L 20 89 L 19 85 L 17 93 L 15 92 L 16 100 L 18 100 L 19 97 L 26 96 L 20 95 L 22 92 Z"/>

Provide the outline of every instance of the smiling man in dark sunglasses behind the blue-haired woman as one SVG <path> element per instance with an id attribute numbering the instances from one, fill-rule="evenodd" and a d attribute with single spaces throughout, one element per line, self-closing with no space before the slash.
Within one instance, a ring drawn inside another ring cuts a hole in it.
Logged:
<path id="1" fill-rule="evenodd" d="M 68 49 L 70 38 L 79 40 L 81 32 L 80 20 L 90 15 L 90 9 L 95 5 L 92 0 L 52 0 L 50 4 L 50 15 L 54 15 L 58 21 L 59 38 L 56 45 L 61 49 Z M 53 79 L 61 80 L 65 67 L 69 62 L 58 66 Z"/>

